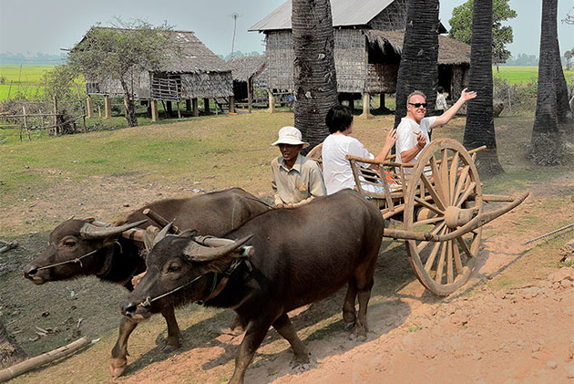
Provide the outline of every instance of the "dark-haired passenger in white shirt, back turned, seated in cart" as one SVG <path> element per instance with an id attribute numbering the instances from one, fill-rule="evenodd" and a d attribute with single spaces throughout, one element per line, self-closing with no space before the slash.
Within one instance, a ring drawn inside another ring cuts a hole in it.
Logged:
<path id="1" fill-rule="evenodd" d="M 354 188 L 353 170 L 349 161 L 345 159 L 346 155 L 384 161 L 395 145 L 396 131 L 389 130 L 386 134 L 383 150 L 374 157 L 371 152 L 364 148 L 361 141 L 350 136 L 353 133 L 353 114 L 351 109 L 342 105 L 329 109 L 325 122 L 331 133 L 323 140 L 322 150 L 323 175 L 327 194 L 333 194 L 345 188 Z M 364 166 L 366 168 L 369 164 L 364 164 Z M 373 186 L 365 186 L 366 189 L 370 187 Z"/>

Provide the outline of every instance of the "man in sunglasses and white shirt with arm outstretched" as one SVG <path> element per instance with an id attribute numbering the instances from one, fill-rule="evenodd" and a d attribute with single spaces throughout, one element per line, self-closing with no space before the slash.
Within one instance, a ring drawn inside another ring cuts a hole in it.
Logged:
<path id="1" fill-rule="evenodd" d="M 395 144 L 396 162 L 415 162 L 421 151 L 428 145 L 429 132 L 442 127 L 452 119 L 458 109 L 470 99 L 475 99 L 477 92 L 464 88 L 456 103 L 440 116 L 425 118 L 426 97 L 421 91 L 415 90 L 406 98 L 406 116 L 396 127 L 397 140 Z"/>

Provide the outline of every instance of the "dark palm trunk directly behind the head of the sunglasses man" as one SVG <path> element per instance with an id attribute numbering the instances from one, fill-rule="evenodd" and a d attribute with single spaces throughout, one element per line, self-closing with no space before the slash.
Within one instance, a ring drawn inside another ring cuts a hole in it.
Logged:
<path id="1" fill-rule="evenodd" d="M 426 96 L 426 116 L 433 116 L 435 112 L 439 25 L 438 0 L 409 0 L 396 81 L 395 128 L 406 116 L 406 98 L 414 90 Z"/>

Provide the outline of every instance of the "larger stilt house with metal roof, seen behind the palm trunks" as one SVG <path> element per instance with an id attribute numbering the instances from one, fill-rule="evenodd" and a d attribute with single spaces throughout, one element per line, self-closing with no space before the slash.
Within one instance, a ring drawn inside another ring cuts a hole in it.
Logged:
<path id="1" fill-rule="evenodd" d="M 363 98 L 369 116 L 370 98 L 395 93 L 405 36 L 407 0 L 331 0 L 334 60 L 340 99 Z M 293 90 L 292 1 L 251 26 L 265 34 L 267 87 L 273 95 Z M 439 33 L 446 33 L 442 24 Z M 439 35 L 438 85 L 458 95 L 467 83 L 470 47 Z"/>

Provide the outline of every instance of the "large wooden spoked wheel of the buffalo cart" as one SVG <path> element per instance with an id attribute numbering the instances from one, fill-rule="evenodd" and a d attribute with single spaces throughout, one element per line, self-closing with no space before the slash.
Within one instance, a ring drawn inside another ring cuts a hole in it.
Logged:
<path id="1" fill-rule="evenodd" d="M 449 234 L 482 213 L 482 208 L 477 167 L 465 147 L 451 139 L 432 141 L 416 162 L 407 187 L 405 231 Z M 478 227 L 447 242 L 406 240 L 406 253 L 426 289 L 446 296 L 468 280 L 481 236 Z"/>

